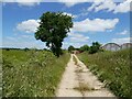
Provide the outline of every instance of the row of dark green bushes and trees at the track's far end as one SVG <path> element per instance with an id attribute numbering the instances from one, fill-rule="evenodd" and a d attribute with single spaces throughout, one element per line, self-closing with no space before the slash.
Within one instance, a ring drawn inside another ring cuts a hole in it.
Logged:
<path id="1" fill-rule="evenodd" d="M 79 48 L 75 48 L 74 46 L 70 45 L 68 47 L 68 52 L 72 53 L 73 51 L 79 51 L 80 53 L 88 52 L 89 54 L 95 54 L 98 52 L 102 52 L 102 50 L 100 50 L 100 46 L 101 46 L 101 44 L 99 42 L 92 42 L 91 46 L 88 46 L 86 44 L 86 45 L 80 46 Z"/>

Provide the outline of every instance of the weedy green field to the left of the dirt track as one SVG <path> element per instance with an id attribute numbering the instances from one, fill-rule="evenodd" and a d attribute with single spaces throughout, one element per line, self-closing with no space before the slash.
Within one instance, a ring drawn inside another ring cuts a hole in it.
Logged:
<path id="1" fill-rule="evenodd" d="M 3 97 L 53 97 L 69 54 L 48 51 L 2 51 Z"/>

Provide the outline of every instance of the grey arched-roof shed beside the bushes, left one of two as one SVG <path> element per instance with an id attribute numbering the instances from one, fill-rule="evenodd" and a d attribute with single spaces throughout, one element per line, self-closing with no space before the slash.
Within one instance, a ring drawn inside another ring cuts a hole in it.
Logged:
<path id="1" fill-rule="evenodd" d="M 116 43 L 107 43 L 103 46 L 101 46 L 101 48 L 106 51 L 119 51 L 121 50 L 121 46 Z"/>

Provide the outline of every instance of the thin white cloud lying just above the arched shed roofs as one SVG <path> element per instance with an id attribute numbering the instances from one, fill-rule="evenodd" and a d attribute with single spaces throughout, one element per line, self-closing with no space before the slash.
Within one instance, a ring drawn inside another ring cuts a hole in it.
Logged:
<path id="1" fill-rule="evenodd" d="M 113 43 L 123 44 L 132 42 L 132 37 L 112 38 Z"/>

